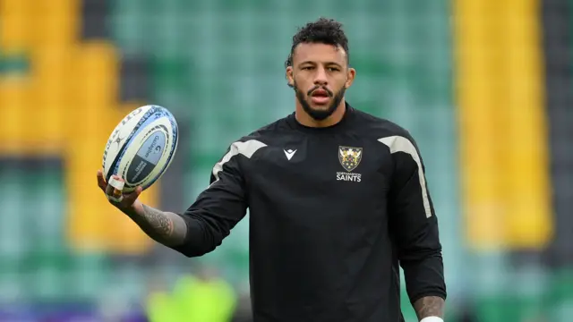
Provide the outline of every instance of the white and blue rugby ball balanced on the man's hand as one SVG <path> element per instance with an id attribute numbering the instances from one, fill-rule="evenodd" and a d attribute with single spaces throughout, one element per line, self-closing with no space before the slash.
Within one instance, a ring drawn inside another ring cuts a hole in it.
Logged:
<path id="1" fill-rule="evenodd" d="M 117 174 L 124 192 L 137 186 L 148 189 L 163 175 L 175 157 L 178 140 L 175 117 L 162 106 L 141 106 L 115 126 L 103 157 L 106 181 Z"/>

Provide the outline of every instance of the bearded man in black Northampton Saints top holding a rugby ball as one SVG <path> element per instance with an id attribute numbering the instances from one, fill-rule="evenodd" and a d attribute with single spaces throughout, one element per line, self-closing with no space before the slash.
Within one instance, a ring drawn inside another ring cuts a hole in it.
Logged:
<path id="1" fill-rule="evenodd" d="M 249 208 L 255 322 L 404 321 L 398 263 L 418 318 L 442 321 L 441 246 L 422 158 L 406 130 L 346 102 L 355 70 L 337 21 L 298 31 L 286 79 L 295 113 L 231 144 L 183 214 L 141 204 L 141 188 L 122 196 L 112 187 L 121 178 L 107 185 L 98 172 L 99 187 L 188 257 L 215 250 Z"/>

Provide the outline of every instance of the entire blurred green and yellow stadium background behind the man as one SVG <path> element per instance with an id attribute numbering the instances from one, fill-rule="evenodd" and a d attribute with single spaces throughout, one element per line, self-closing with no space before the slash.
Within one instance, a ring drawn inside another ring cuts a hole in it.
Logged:
<path id="1" fill-rule="evenodd" d="M 246 219 L 184 258 L 109 207 L 96 170 L 124 114 L 166 106 L 183 137 L 143 199 L 184 210 L 230 142 L 293 111 L 291 38 L 327 16 L 350 39 L 349 102 L 422 150 L 447 321 L 571 321 L 572 15 L 571 0 L 0 0 L 0 320 L 250 321 Z"/>

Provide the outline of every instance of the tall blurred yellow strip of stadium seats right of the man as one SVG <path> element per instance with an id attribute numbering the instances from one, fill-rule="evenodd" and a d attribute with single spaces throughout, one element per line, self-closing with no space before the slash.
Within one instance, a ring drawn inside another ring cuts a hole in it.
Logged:
<path id="1" fill-rule="evenodd" d="M 454 4 L 470 245 L 543 248 L 551 238 L 552 214 L 538 0 Z"/>

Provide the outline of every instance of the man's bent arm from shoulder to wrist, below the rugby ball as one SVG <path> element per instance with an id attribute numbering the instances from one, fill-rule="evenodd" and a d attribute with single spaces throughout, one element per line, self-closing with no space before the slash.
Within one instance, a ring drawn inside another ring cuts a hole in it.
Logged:
<path id="1" fill-rule="evenodd" d="M 210 186 L 183 214 L 161 211 L 135 201 L 124 211 L 151 239 L 187 257 L 215 250 L 245 216 L 247 201 L 240 158 L 252 157 L 259 141 L 237 141 L 213 167 Z"/>

